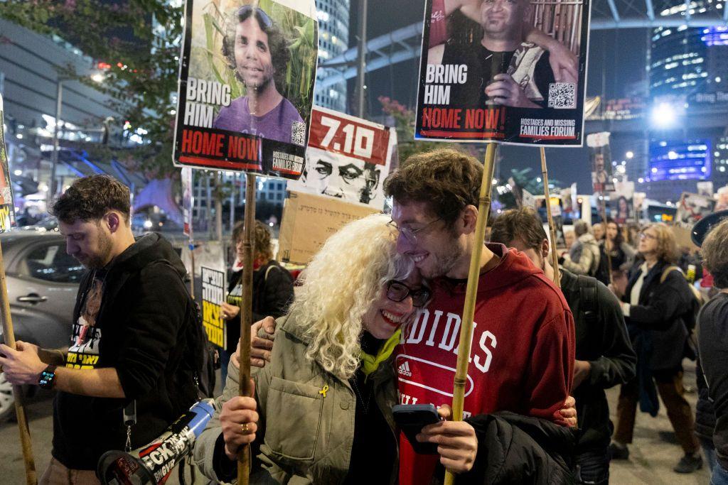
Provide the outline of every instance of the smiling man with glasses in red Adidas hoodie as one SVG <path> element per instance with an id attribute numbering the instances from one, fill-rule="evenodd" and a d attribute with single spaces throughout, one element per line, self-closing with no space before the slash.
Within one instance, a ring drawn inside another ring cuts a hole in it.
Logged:
<path id="1" fill-rule="evenodd" d="M 483 167 L 454 150 L 411 156 L 384 183 L 394 198 L 397 251 L 432 279 L 432 302 L 395 350 L 402 404 L 450 404 Z M 574 320 L 563 295 L 526 255 L 486 244 L 480 257 L 464 417 L 510 411 L 559 421 L 574 366 Z M 445 414 L 445 413 L 441 413 Z M 400 484 L 430 483 L 438 458 L 456 473 L 478 452 L 467 422 L 424 428 L 439 455 L 400 438 Z M 483 444 L 480 444 L 483 445 Z"/>

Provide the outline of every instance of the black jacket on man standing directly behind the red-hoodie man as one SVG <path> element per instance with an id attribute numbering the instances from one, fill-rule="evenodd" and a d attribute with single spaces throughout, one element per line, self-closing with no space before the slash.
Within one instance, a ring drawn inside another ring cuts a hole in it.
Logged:
<path id="1" fill-rule="evenodd" d="M 591 364 L 590 377 L 574 390 L 582 436 L 577 453 L 606 448 L 612 436 L 604 389 L 635 375 L 637 357 L 627 334 L 620 302 L 596 278 L 561 270 L 561 291 L 574 314 L 577 360 Z"/>

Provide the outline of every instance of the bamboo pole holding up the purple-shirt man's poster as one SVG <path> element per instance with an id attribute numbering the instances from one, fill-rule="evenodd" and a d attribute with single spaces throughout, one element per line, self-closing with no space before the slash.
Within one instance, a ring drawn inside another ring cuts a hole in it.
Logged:
<path id="1" fill-rule="evenodd" d="M 253 225 L 256 223 L 256 175 L 245 174 L 245 227 L 243 228 L 242 292 L 240 294 L 240 382 L 238 394 L 250 396 L 250 326 L 253 325 Z M 238 454 L 237 483 L 248 485 L 250 445 Z"/>

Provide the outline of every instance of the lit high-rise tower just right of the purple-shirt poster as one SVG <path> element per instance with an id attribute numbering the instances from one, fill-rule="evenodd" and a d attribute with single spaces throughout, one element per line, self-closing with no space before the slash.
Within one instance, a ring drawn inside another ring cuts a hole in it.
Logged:
<path id="1" fill-rule="evenodd" d="M 349 48 L 349 0 L 316 0 L 319 20 L 319 65 L 344 54 Z M 338 71 L 336 71 L 338 72 Z M 326 76 L 317 72 L 317 80 Z M 314 91 L 314 104 L 345 113 L 347 111 L 347 82 Z"/>

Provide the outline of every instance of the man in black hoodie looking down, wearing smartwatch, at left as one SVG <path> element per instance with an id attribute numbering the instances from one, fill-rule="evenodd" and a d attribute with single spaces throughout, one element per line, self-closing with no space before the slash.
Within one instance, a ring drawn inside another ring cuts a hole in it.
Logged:
<path id="1" fill-rule="evenodd" d="M 53 212 L 68 254 L 88 269 L 69 348 L 1 348 L 8 380 L 58 390 L 41 483 L 98 483 L 101 454 L 148 443 L 197 399 L 186 270 L 161 236 L 135 241 L 129 201 L 129 189 L 106 175 L 76 180 L 60 196 Z M 122 409 L 132 402 L 127 428 Z"/>

